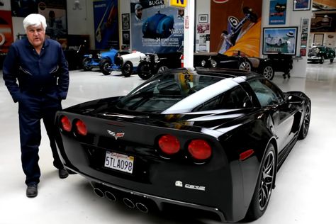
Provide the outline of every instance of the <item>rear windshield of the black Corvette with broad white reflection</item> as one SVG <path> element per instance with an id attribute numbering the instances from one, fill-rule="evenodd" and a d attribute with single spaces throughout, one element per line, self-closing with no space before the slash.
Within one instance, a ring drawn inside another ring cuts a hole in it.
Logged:
<path id="1" fill-rule="evenodd" d="M 251 102 L 232 78 L 181 72 L 157 75 L 131 91 L 117 106 L 148 113 L 186 113 L 244 108 Z"/>

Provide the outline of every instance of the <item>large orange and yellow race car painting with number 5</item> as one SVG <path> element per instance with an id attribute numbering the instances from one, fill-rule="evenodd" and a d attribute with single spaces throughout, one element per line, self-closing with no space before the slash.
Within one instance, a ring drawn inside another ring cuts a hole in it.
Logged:
<path id="1" fill-rule="evenodd" d="M 210 50 L 259 57 L 262 0 L 211 0 Z"/>

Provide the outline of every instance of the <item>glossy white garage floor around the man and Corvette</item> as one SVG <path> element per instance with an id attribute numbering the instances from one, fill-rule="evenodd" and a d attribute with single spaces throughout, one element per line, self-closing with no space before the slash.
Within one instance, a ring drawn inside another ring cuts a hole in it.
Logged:
<path id="1" fill-rule="evenodd" d="M 138 75 L 70 72 L 70 89 L 63 106 L 101 97 L 125 94 L 143 82 Z M 308 64 L 307 78 L 274 82 L 284 91 L 300 90 L 312 100 L 310 132 L 296 143 L 278 172 L 267 212 L 254 223 L 307 224 L 335 222 L 336 63 Z M 36 198 L 26 197 L 18 137 L 18 105 L 0 80 L 0 224 L 69 223 L 217 223 L 184 220 L 162 214 L 143 214 L 122 203 L 98 198 L 88 181 L 79 175 L 59 179 L 43 129 L 40 147 L 42 177 Z M 218 192 L 220 194 L 220 192 Z"/>

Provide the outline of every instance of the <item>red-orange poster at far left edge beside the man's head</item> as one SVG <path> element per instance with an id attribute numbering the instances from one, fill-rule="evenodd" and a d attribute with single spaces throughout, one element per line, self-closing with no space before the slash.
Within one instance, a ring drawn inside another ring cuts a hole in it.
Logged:
<path id="1" fill-rule="evenodd" d="M 0 54 L 7 53 L 13 43 L 11 11 L 0 10 Z"/>

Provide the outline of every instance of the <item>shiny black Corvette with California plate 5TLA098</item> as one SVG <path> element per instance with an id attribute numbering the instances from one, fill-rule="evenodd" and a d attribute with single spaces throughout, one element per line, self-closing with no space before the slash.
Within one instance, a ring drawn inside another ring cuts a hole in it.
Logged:
<path id="1" fill-rule="evenodd" d="M 310 99 L 253 72 L 171 69 L 55 122 L 65 167 L 98 196 L 237 222 L 266 210 L 276 171 L 308 133 Z"/>

